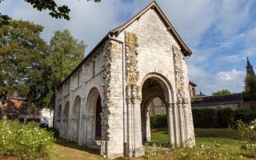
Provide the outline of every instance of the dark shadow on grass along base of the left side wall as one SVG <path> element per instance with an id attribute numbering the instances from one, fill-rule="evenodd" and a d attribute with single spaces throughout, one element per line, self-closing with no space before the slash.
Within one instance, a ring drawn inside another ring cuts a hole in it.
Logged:
<path id="1" fill-rule="evenodd" d="M 65 147 L 68 147 L 71 149 L 82 150 L 82 151 L 88 152 L 90 154 L 99 155 L 99 150 L 90 148 L 89 146 L 85 146 L 85 145 L 79 146 L 78 142 L 70 142 L 70 141 L 66 141 L 66 139 L 63 139 L 63 138 L 56 138 L 55 143 L 60 146 L 65 146 Z"/>

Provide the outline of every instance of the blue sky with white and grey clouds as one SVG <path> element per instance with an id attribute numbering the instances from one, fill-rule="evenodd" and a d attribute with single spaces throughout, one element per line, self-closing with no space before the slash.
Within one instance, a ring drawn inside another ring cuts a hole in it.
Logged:
<path id="1" fill-rule="evenodd" d="M 152 0 L 58 1 L 70 7 L 70 21 L 54 19 L 20 0 L 0 3 L 2 14 L 45 27 L 47 42 L 55 30 L 70 30 L 88 44 L 86 54 L 112 29 L 121 26 Z M 186 59 L 190 81 L 199 93 L 228 89 L 242 92 L 246 54 L 256 68 L 256 1 L 254 0 L 157 0 L 158 5 L 192 50 Z"/>

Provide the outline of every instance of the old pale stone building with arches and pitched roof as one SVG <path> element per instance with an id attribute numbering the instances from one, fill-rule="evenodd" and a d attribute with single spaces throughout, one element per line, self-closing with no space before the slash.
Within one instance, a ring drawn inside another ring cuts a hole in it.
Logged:
<path id="1" fill-rule="evenodd" d="M 149 104 L 165 103 L 170 145 L 194 145 L 189 79 L 191 51 L 156 2 L 110 30 L 56 90 L 60 137 L 94 146 L 106 157 L 144 154 Z"/>

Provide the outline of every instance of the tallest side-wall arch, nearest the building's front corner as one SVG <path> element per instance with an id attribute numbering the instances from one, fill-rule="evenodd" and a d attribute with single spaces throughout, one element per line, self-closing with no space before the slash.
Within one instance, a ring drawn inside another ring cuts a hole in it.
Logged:
<path id="1" fill-rule="evenodd" d="M 83 142 L 95 144 L 102 139 L 102 98 L 97 88 L 90 90 L 86 101 Z"/>

